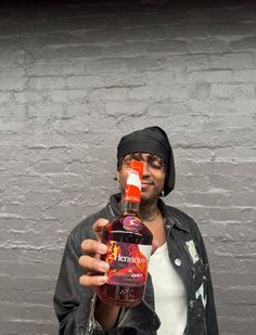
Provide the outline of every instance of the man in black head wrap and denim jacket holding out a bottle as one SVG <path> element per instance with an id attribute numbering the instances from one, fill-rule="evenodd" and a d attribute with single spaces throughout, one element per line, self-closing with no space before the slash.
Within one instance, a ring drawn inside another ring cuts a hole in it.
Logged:
<path id="1" fill-rule="evenodd" d="M 154 254 L 144 299 L 135 308 L 101 301 L 97 292 L 106 281 L 107 250 L 101 232 L 120 215 L 131 159 L 144 162 L 141 218 L 153 234 Z M 218 335 L 213 286 L 204 243 L 196 223 L 166 206 L 175 186 L 175 160 L 169 140 L 159 127 L 121 138 L 117 147 L 117 181 L 105 208 L 80 222 L 71 233 L 54 295 L 60 334 Z"/>

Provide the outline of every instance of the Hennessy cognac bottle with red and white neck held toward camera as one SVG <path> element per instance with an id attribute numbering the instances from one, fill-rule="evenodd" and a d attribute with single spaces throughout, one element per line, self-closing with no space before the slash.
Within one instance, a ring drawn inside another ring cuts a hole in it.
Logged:
<path id="1" fill-rule="evenodd" d="M 103 230 L 110 263 L 99 297 L 111 305 L 135 307 L 144 296 L 153 235 L 139 217 L 143 162 L 131 160 L 121 202 L 121 215 Z"/>

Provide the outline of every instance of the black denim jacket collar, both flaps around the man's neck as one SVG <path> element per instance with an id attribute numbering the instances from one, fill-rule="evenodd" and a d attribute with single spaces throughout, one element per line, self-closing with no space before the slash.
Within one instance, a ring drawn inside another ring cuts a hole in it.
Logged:
<path id="1" fill-rule="evenodd" d="M 108 220 L 112 220 L 120 216 L 120 208 L 118 206 L 120 198 L 121 198 L 120 193 L 116 193 L 111 196 L 110 202 L 106 205 L 106 214 Z M 166 206 L 166 204 L 161 198 L 158 198 L 158 207 L 166 219 L 166 226 L 168 229 L 178 228 L 185 232 L 190 231 L 187 222 L 184 222 L 184 220 L 181 220 L 181 218 L 179 218 L 179 216 L 177 215 L 178 209 L 170 206 Z"/>

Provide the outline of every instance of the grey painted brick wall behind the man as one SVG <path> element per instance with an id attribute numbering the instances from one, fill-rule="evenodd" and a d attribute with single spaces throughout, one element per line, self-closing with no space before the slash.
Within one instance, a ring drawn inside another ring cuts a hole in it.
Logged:
<path id="1" fill-rule="evenodd" d="M 156 3 L 154 3 L 156 2 Z M 116 191 L 123 133 L 163 127 L 199 223 L 223 335 L 256 330 L 256 5 L 0 8 L 0 334 L 56 334 L 68 232 Z"/>

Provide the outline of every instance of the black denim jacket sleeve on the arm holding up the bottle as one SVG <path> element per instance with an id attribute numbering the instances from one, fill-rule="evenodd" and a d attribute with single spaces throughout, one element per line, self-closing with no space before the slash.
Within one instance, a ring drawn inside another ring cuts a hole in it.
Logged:
<path id="1" fill-rule="evenodd" d="M 60 322 L 59 335 L 104 334 L 94 332 L 94 296 L 89 288 L 79 284 L 84 273 L 78 265 L 81 250 L 69 235 L 63 254 L 56 282 L 53 305 Z"/>

